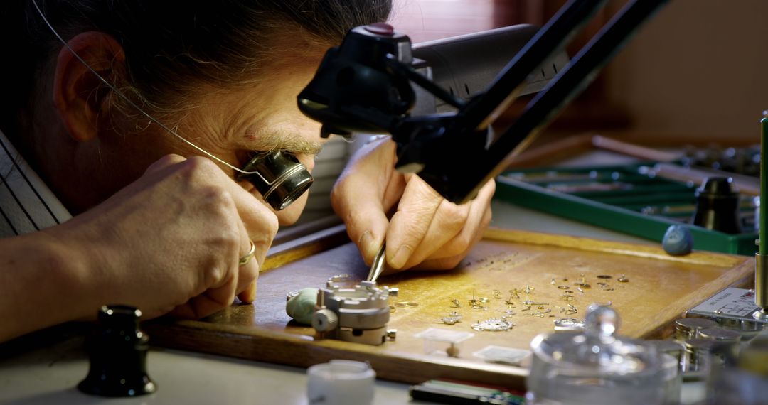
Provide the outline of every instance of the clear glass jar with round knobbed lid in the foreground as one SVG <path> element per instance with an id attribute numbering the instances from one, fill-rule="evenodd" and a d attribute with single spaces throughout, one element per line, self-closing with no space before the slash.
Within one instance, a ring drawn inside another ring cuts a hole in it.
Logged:
<path id="1" fill-rule="evenodd" d="M 584 331 L 540 334 L 531 342 L 529 404 L 665 403 L 664 362 L 653 344 L 616 334 L 616 311 L 591 305 Z"/>

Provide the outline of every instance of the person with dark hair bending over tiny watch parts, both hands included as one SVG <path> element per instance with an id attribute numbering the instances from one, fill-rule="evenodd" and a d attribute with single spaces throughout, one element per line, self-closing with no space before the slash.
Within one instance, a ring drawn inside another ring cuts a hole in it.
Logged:
<path id="1" fill-rule="evenodd" d="M 104 303 L 200 318 L 253 301 L 278 226 L 306 193 L 277 210 L 237 175 L 276 150 L 312 170 L 323 140 L 296 94 L 329 46 L 391 4 L 4 7 L 0 341 Z M 490 221 L 494 184 L 456 206 L 394 160 L 392 143 L 371 143 L 336 183 L 350 237 L 369 263 L 386 239 L 390 268 L 454 267 Z"/>

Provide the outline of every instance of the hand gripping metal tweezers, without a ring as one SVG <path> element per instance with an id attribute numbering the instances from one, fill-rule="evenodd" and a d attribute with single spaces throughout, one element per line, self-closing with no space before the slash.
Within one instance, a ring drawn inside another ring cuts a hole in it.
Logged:
<path id="1" fill-rule="evenodd" d="M 336 182 L 331 202 L 349 238 L 368 264 L 386 239 L 386 262 L 393 270 L 454 268 L 491 222 L 495 183 L 485 184 L 471 202 L 456 205 L 418 176 L 397 172 L 395 162 L 394 143 L 370 143 Z"/>

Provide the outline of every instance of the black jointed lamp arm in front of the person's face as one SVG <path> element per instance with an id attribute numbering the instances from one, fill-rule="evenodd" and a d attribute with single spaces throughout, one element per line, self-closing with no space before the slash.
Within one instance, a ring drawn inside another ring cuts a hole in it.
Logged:
<path id="1" fill-rule="evenodd" d="M 468 101 L 420 74 L 412 64 L 410 39 L 392 26 L 379 23 L 353 28 L 339 47 L 326 53 L 315 77 L 297 97 L 298 107 L 323 123 L 323 136 L 391 133 L 397 144 L 397 170 L 418 173 L 451 202 L 467 202 L 528 147 L 664 2 L 629 2 L 513 123 L 498 118 L 525 91 L 531 74 L 561 52 L 604 2 L 568 2 L 526 42 L 489 87 Z M 412 114 L 415 91 L 411 84 L 457 111 Z"/>

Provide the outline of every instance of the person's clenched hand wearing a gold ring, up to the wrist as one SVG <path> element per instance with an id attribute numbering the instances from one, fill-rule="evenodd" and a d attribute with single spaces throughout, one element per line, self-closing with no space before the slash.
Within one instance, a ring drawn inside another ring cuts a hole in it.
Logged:
<path id="1" fill-rule="evenodd" d="M 98 305 L 201 318 L 236 295 L 253 301 L 277 219 L 210 160 L 169 155 L 52 232 L 84 250 L 84 282 Z M 256 255 L 241 266 L 250 240 Z"/>

